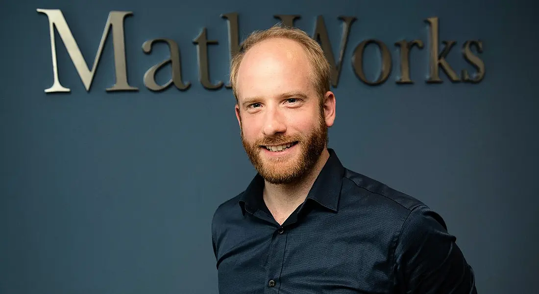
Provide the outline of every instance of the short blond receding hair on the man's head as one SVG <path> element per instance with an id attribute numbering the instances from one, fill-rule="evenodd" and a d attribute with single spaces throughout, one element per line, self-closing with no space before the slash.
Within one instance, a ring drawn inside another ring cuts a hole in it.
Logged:
<path id="1" fill-rule="evenodd" d="M 305 50 L 312 69 L 311 80 L 316 88 L 317 95 L 319 95 L 320 103 L 323 104 L 324 95 L 329 91 L 331 66 L 326 59 L 326 55 L 324 55 L 322 47 L 299 28 L 287 27 L 281 24 L 277 24 L 267 30 L 254 31 L 243 41 L 240 52 L 233 56 L 230 62 L 230 84 L 234 97 L 236 97 L 236 102 L 238 102 L 237 77 L 241 60 L 243 60 L 248 49 L 272 38 L 285 38 L 296 41 Z"/>

